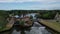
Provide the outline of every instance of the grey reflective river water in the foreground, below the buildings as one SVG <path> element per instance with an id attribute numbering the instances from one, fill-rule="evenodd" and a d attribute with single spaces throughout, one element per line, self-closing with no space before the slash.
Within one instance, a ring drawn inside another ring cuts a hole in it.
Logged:
<path id="1" fill-rule="evenodd" d="M 38 27 L 36 26 L 38 25 Z M 29 29 L 14 29 L 12 34 L 51 34 L 48 32 L 44 26 L 41 26 L 37 22 L 34 22 L 34 25 Z"/>

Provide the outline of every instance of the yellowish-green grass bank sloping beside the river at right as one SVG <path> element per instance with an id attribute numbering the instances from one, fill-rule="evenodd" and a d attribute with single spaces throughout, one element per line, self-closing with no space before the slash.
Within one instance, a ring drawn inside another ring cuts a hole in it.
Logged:
<path id="1" fill-rule="evenodd" d="M 60 32 L 60 23 L 58 23 L 58 22 L 52 22 L 52 21 L 50 22 L 50 21 L 42 20 L 41 23 Z"/>

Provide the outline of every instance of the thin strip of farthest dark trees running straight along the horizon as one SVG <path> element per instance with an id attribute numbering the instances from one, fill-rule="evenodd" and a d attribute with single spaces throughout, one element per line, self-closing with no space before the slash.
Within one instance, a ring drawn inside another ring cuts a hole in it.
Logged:
<path id="1" fill-rule="evenodd" d="M 60 10 L 0 10 L 0 12 L 3 11 L 5 13 L 41 13 L 41 12 L 59 12 Z"/>

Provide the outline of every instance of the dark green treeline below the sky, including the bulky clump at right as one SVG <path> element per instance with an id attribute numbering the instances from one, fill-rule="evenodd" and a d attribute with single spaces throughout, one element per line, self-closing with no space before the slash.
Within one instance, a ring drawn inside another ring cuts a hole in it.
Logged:
<path id="1" fill-rule="evenodd" d="M 0 10 L 0 16 L 7 17 L 9 14 L 27 14 L 27 13 L 39 13 L 40 18 L 54 18 L 57 12 L 60 14 L 60 10 Z"/>

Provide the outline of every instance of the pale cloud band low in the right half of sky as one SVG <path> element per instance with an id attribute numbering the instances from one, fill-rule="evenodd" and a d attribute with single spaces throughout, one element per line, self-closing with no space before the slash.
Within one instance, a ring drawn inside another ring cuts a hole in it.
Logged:
<path id="1" fill-rule="evenodd" d="M 37 10 L 54 10 L 54 9 L 60 9 L 59 4 L 42 4 L 42 5 L 32 5 L 28 6 L 30 9 L 37 9 Z"/>

